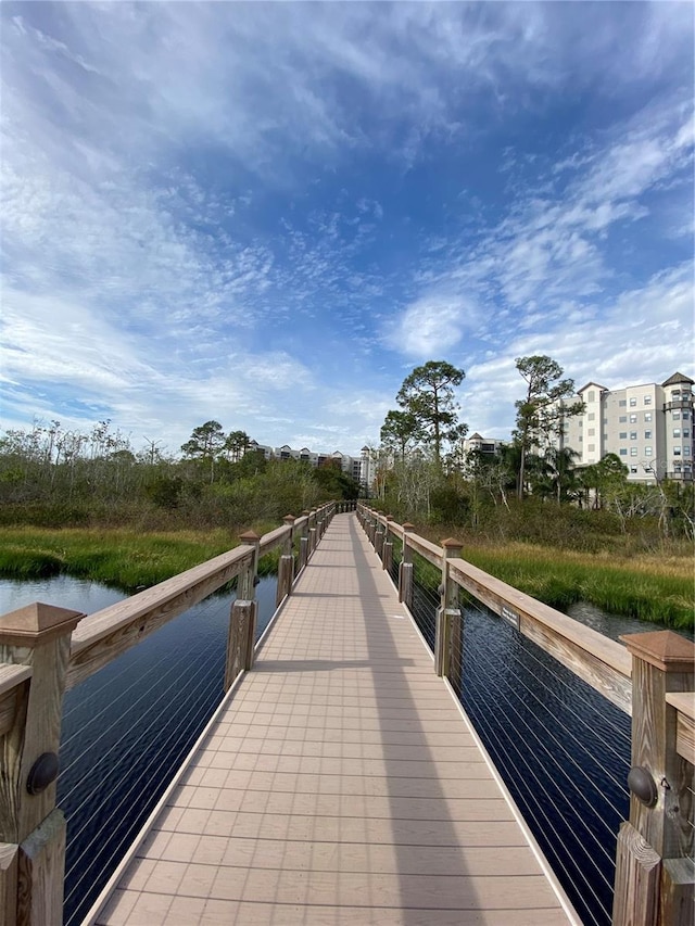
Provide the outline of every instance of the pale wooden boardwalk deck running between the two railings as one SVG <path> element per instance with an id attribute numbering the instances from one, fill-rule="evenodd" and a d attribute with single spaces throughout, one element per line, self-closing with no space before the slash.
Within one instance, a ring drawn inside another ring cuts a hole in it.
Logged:
<path id="1" fill-rule="evenodd" d="M 131 855 L 89 922 L 579 922 L 354 515 Z"/>

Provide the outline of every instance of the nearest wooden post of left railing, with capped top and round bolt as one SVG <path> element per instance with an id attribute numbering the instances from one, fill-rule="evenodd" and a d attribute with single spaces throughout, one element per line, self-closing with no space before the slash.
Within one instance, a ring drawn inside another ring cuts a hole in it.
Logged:
<path id="1" fill-rule="evenodd" d="M 55 807 L 63 693 L 78 611 L 28 605 L 0 618 L 0 663 L 30 670 L 2 699 L 0 898 L 8 924 L 63 922 L 65 817 Z"/>

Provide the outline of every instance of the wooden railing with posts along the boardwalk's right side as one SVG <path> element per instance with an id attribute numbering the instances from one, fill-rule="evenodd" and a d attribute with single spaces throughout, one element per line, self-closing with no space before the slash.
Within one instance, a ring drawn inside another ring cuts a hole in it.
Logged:
<path id="1" fill-rule="evenodd" d="M 414 555 L 441 574 L 432 633 L 434 670 L 459 690 L 459 589 L 511 624 L 573 674 L 632 716 L 630 819 L 616 847 L 614 926 L 692 926 L 695 771 L 695 646 L 670 631 L 608 639 L 567 616 L 488 575 L 462 559 L 460 543 L 442 545 L 358 505 L 361 523 L 414 604 Z M 400 549 L 394 569 L 394 544 Z M 427 630 L 427 629 L 426 629 Z"/>

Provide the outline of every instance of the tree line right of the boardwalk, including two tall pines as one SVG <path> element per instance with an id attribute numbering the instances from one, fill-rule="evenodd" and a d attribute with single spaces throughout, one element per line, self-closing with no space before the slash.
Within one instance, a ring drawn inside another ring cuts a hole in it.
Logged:
<path id="1" fill-rule="evenodd" d="M 552 502 L 608 512 L 623 533 L 635 520 L 653 519 L 662 537 L 693 538 L 692 484 L 630 482 L 628 467 L 615 454 L 577 467 L 579 455 L 561 440 L 569 419 L 584 410 L 573 380 L 546 355 L 515 363 L 523 381 L 515 429 L 494 453 L 465 449 L 468 426 L 455 393 L 463 369 L 429 360 L 406 377 L 395 396 L 399 407 L 388 411 L 380 444 L 371 448 L 374 493 L 384 507 L 395 517 L 476 530 L 498 524 L 497 509 L 511 513 L 513 506 L 526 506 L 520 510 L 530 516 L 533 506 Z"/>

